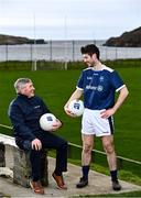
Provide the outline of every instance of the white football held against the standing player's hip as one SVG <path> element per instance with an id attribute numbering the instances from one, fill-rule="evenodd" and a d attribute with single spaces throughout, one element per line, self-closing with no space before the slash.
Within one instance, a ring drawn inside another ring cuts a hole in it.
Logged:
<path id="1" fill-rule="evenodd" d="M 74 113 L 76 117 L 80 117 L 84 112 L 84 102 L 83 100 L 72 100 L 68 105 L 68 110 Z"/>

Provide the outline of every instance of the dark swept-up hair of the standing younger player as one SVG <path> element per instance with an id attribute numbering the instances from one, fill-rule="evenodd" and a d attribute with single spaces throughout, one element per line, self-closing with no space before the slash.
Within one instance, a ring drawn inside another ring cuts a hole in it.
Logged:
<path id="1" fill-rule="evenodd" d="M 88 54 L 89 56 L 91 56 L 93 54 L 96 54 L 98 59 L 100 56 L 99 48 L 94 44 L 82 46 L 80 52 L 82 54 Z"/>

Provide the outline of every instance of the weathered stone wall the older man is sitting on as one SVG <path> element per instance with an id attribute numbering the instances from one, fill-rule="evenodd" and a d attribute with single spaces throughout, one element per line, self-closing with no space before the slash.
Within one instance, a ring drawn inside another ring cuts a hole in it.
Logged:
<path id="1" fill-rule="evenodd" d="M 0 175 L 8 175 L 8 172 L 12 172 L 13 183 L 20 184 L 24 187 L 30 187 L 30 152 L 25 153 L 24 151 L 20 150 L 14 144 L 14 139 L 11 140 L 10 138 L 8 140 L 8 135 L 6 135 L 6 141 L 3 136 L 0 139 L 2 140 L 0 141 Z M 42 183 L 44 186 L 48 185 L 47 164 L 47 150 L 44 150 L 42 153 Z"/>

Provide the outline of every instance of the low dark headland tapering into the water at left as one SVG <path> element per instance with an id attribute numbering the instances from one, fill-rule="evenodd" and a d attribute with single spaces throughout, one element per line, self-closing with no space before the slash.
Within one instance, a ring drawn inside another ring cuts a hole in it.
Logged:
<path id="1" fill-rule="evenodd" d="M 36 44 L 44 44 L 44 40 L 36 40 Z M 0 45 L 33 44 L 34 40 L 21 36 L 0 34 Z"/>

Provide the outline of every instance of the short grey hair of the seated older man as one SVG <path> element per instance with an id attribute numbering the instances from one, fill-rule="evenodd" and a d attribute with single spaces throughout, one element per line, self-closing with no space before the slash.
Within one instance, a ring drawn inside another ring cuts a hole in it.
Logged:
<path id="1" fill-rule="evenodd" d="M 17 79 L 17 81 L 14 82 L 14 88 L 15 88 L 17 94 L 19 94 L 20 90 L 25 87 L 25 84 L 29 84 L 29 82 L 31 82 L 30 78 Z"/>

